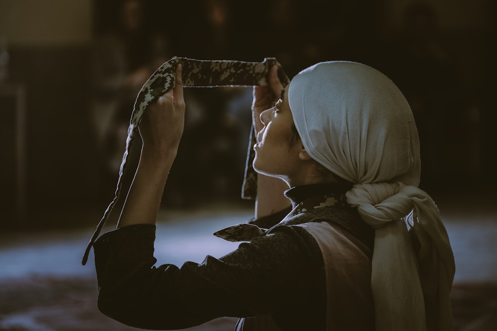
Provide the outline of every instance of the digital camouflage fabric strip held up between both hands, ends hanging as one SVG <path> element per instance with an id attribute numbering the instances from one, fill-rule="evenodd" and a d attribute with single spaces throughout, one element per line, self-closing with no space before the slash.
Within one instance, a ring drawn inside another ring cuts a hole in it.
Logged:
<path id="1" fill-rule="evenodd" d="M 243 62 L 243 61 L 203 61 L 186 58 L 173 58 L 160 66 L 143 85 L 135 101 L 133 113 L 131 115 L 126 139 L 126 150 L 119 169 L 119 179 L 115 197 L 105 210 L 102 219 L 98 223 L 95 232 L 84 251 L 82 264 L 88 260 L 89 251 L 96 238 L 100 234 L 105 222 L 110 216 L 112 208 L 119 200 L 122 191 L 122 178 L 126 171 L 129 151 L 133 139 L 135 138 L 145 110 L 148 105 L 154 102 L 167 90 L 174 87 L 176 66 L 181 64 L 183 73 L 182 80 L 185 87 L 215 87 L 215 86 L 267 86 L 269 69 L 276 65 L 279 67 L 278 76 L 283 86 L 288 85 L 290 80 L 281 69 L 280 64 L 274 58 L 265 58 L 263 62 Z M 254 134 L 251 130 L 248 148 L 247 167 L 242 188 L 244 199 L 255 199 L 256 195 L 256 174 L 252 168 Z"/>

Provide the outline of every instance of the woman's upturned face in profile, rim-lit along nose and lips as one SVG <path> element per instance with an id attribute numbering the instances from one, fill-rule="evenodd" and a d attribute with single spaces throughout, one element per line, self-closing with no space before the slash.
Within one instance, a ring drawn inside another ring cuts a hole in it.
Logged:
<path id="1" fill-rule="evenodd" d="M 298 170 L 298 146 L 293 143 L 293 116 L 288 105 L 288 87 L 282 99 L 274 107 L 263 111 L 260 119 L 264 125 L 257 132 L 257 143 L 254 145 L 254 169 L 270 176 L 289 177 Z"/>

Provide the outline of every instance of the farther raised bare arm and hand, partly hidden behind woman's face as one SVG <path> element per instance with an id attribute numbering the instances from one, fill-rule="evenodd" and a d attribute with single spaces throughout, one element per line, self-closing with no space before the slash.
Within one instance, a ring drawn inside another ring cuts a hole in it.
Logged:
<path id="1" fill-rule="evenodd" d="M 254 86 L 252 119 L 255 134 L 264 126 L 260 122 L 260 113 L 274 105 L 283 89 L 278 78 L 277 66 L 273 66 L 269 72 L 269 86 Z M 290 206 L 290 200 L 283 195 L 286 190 L 288 186 L 281 179 L 257 174 L 255 217 L 267 216 Z"/>

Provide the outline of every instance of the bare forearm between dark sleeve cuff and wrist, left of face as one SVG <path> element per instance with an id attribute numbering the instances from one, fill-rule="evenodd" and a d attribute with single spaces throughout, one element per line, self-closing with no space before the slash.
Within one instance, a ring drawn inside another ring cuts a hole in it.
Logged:
<path id="1" fill-rule="evenodd" d="M 142 148 L 140 162 L 119 217 L 118 228 L 156 223 L 167 175 L 175 156 L 175 151 L 164 153 L 154 148 Z"/>

